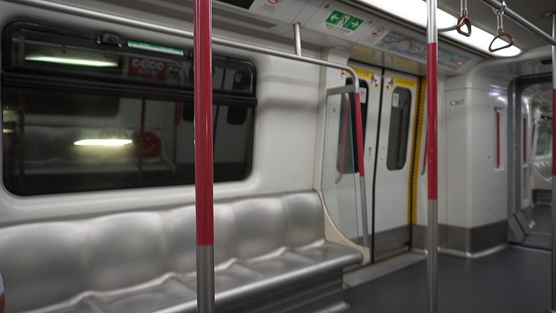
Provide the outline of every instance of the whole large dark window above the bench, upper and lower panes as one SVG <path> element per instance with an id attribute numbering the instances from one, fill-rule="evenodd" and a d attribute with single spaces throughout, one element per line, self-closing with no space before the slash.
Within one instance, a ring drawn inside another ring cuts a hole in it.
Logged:
<path id="1" fill-rule="evenodd" d="M 195 182 L 183 49 L 17 22 L 3 47 L 3 181 L 17 195 Z M 213 59 L 214 180 L 252 166 L 255 70 Z"/>

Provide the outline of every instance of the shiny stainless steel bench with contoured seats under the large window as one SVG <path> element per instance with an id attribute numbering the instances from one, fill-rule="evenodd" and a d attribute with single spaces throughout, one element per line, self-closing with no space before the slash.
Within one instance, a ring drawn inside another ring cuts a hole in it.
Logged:
<path id="1" fill-rule="evenodd" d="M 0 251 L 7 312 L 196 312 L 194 205 L 5 227 Z M 217 309 L 361 260 L 314 192 L 215 204 Z"/>

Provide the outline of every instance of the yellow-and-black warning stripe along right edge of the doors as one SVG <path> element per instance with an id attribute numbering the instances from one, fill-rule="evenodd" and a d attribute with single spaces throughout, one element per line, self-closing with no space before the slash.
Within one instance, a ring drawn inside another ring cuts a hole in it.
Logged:
<path id="1" fill-rule="evenodd" d="M 407 184 L 407 223 L 417 224 L 417 194 L 419 181 L 419 159 L 421 152 L 421 137 L 423 135 L 423 115 L 425 115 L 425 92 L 427 79 L 422 77 L 418 81 L 415 96 L 415 117 L 413 122 L 413 136 L 411 137 L 411 156 L 409 157 L 409 179 Z"/>

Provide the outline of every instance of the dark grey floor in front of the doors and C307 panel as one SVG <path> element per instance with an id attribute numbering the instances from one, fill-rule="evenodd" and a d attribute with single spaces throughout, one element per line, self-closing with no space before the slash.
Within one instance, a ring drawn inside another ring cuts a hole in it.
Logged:
<path id="1" fill-rule="evenodd" d="M 427 264 L 345 290 L 347 312 L 427 312 Z M 528 313 L 550 307 L 550 252 L 510 246 L 480 259 L 439 256 L 439 312 Z"/>

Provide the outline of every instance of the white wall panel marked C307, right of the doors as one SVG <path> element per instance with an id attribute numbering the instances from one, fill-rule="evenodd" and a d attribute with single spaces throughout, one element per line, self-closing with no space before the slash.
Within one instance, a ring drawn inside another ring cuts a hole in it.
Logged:
<path id="1" fill-rule="evenodd" d="M 448 90 L 448 225 L 477 227 L 507 217 L 507 97 L 475 88 Z M 457 102 L 464 100 L 463 104 Z M 450 105 L 450 102 L 453 105 Z M 500 108 L 500 168 L 495 109 Z"/>

